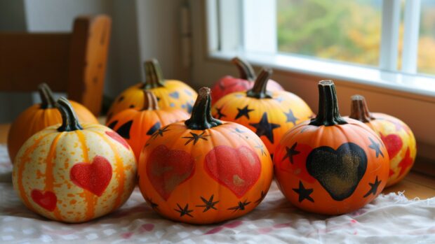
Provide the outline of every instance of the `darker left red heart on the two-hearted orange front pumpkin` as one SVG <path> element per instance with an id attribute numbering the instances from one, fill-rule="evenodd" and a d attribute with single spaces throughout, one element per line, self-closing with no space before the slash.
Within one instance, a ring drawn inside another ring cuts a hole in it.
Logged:
<path id="1" fill-rule="evenodd" d="M 194 159 L 185 151 L 170 150 L 166 145 L 159 145 L 149 155 L 149 181 L 166 201 L 175 187 L 192 177 L 194 171 Z"/>

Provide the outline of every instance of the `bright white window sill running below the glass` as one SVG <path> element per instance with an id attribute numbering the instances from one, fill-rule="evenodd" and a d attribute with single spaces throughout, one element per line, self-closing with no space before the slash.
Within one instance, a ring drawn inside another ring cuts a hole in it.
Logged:
<path id="1" fill-rule="evenodd" d="M 342 80 L 403 93 L 423 95 L 428 96 L 431 100 L 435 98 L 435 76 L 382 71 L 368 66 L 344 64 L 297 55 L 210 52 L 209 57 L 229 60 L 237 55 L 243 56 L 248 62 L 257 66 L 268 66 L 282 71 L 319 76 L 322 79 Z"/>

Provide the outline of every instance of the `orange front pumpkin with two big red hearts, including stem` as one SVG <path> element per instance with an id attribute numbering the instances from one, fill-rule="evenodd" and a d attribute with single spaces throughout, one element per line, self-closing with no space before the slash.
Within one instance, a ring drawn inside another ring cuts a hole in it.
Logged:
<path id="1" fill-rule="evenodd" d="M 139 187 L 149 206 L 171 220 L 209 224 L 253 210 L 273 177 L 260 138 L 210 113 L 210 89 L 199 89 L 192 117 L 156 131 L 142 149 Z"/>

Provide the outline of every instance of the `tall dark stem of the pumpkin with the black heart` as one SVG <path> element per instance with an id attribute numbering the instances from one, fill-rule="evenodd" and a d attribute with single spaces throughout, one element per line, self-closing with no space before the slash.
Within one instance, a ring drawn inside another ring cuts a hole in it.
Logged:
<path id="1" fill-rule="evenodd" d="M 347 124 L 340 116 L 337 103 L 337 92 L 332 80 L 321 80 L 319 82 L 319 113 L 309 124 L 326 127 L 335 124 Z"/>

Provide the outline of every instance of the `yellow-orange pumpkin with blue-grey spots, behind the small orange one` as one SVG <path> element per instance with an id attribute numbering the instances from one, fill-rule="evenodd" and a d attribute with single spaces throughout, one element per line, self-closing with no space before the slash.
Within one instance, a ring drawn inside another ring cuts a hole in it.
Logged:
<path id="1" fill-rule="evenodd" d="M 178 108 L 187 113 L 192 111 L 197 95 L 194 89 L 180 80 L 164 80 L 159 62 L 151 59 L 145 62 L 145 82 L 129 87 L 116 97 L 107 113 L 107 121 L 127 108 L 140 110 L 145 100 L 144 89 L 156 95 L 160 108 Z"/>

